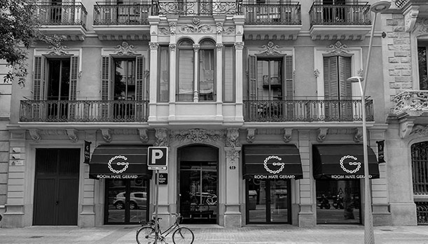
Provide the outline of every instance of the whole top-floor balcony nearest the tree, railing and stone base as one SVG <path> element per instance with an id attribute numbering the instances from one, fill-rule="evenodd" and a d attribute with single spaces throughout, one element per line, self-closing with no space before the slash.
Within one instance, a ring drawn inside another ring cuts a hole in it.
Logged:
<path id="1" fill-rule="evenodd" d="M 83 41 L 86 35 L 86 12 L 82 3 L 62 2 L 37 4 L 41 31 L 47 35 L 65 36 L 68 41 Z"/>

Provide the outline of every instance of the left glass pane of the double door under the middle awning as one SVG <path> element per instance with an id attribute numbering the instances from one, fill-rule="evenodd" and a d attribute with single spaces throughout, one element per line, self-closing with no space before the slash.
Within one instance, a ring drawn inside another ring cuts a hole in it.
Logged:
<path id="1" fill-rule="evenodd" d="M 266 181 L 250 179 L 248 182 L 248 220 L 266 222 Z"/>

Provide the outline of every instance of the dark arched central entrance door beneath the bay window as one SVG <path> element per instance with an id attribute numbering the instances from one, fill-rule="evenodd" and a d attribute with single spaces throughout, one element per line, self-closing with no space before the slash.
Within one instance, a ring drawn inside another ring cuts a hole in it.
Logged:
<path id="1" fill-rule="evenodd" d="M 179 210 L 188 224 L 216 224 L 218 151 L 207 146 L 180 150 Z"/>

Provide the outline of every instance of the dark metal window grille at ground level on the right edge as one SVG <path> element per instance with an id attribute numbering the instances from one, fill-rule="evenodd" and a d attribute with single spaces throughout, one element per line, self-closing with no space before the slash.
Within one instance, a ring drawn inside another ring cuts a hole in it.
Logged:
<path id="1" fill-rule="evenodd" d="M 428 194 L 428 141 L 411 146 L 413 194 Z"/>

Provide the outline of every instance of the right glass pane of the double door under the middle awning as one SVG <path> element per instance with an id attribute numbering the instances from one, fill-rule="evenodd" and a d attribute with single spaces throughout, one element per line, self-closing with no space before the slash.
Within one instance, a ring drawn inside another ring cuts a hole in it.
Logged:
<path id="1" fill-rule="evenodd" d="M 270 180 L 270 222 L 288 222 L 287 180 Z"/>

